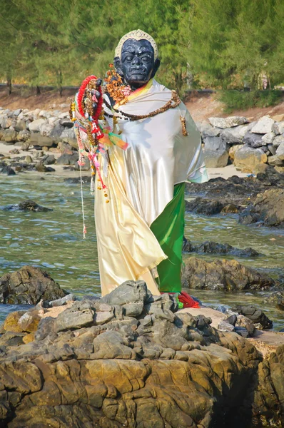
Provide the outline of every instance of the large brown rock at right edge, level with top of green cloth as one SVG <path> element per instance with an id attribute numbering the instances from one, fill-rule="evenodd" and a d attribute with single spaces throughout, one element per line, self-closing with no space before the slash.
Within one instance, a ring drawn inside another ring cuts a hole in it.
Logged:
<path id="1" fill-rule="evenodd" d="M 265 190 L 255 202 L 243 210 L 239 223 L 261 222 L 265 226 L 283 227 L 284 225 L 284 189 Z"/>

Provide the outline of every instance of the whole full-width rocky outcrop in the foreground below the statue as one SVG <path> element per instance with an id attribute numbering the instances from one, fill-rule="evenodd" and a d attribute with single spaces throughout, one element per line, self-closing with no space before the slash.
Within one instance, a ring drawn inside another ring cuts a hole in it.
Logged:
<path id="1" fill-rule="evenodd" d="M 63 299 L 1 327 L 1 426 L 281 426 L 284 345 L 263 358 L 142 281 Z"/>

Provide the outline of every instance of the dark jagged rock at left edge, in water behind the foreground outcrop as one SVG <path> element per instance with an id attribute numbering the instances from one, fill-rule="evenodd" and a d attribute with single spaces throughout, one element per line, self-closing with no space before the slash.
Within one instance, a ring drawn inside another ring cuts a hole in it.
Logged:
<path id="1" fill-rule="evenodd" d="M 0 278 L 0 302 L 21 305 L 36 305 L 41 299 L 55 300 L 66 292 L 37 267 L 24 266 Z"/>

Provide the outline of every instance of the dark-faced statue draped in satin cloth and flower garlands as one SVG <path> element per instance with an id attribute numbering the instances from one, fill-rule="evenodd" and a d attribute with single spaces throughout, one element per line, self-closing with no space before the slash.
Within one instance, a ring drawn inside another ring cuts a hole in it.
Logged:
<path id="1" fill-rule="evenodd" d="M 71 105 L 79 164 L 87 156 L 96 180 L 102 295 L 125 280 L 145 280 L 153 295 L 181 291 L 185 183 L 208 178 L 200 133 L 178 94 L 155 80 L 159 65 L 153 38 L 131 31 L 104 93 L 89 76 Z"/>

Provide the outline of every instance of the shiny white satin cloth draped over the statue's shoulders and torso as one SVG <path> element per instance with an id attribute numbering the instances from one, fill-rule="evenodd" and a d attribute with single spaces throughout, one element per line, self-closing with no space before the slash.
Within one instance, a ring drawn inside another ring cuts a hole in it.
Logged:
<path id="1" fill-rule="evenodd" d="M 170 90 L 153 79 L 148 91 L 118 110 L 146 115 L 163 107 L 171 96 Z M 181 116 L 186 118 L 188 136 L 183 136 Z M 183 103 L 140 121 L 118 119 L 118 128 L 121 139 L 128 143 L 122 153 L 123 163 L 118 166 L 127 198 L 151 225 L 173 198 L 173 185 L 183 183 L 203 167 L 201 135 Z"/>

